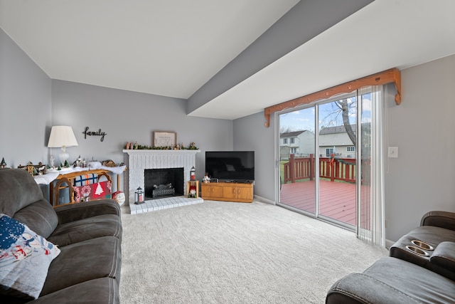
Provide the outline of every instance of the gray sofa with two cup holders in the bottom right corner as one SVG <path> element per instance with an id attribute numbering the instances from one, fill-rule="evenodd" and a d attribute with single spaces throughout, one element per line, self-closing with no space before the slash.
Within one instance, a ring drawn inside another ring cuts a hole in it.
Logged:
<path id="1" fill-rule="evenodd" d="M 390 256 L 328 291 L 334 303 L 455 303 L 455 213 L 431 211 L 390 247 Z"/>

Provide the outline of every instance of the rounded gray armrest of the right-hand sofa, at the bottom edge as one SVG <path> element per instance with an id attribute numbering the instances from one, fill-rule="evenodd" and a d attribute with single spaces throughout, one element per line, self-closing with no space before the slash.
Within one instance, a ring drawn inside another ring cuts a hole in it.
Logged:
<path id="1" fill-rule="evenodd" d="M 382 281 L 363 273 L 350 273 L 341 278 L 326 295 L 326 304 L 409 304 L 417 301 Z"/>

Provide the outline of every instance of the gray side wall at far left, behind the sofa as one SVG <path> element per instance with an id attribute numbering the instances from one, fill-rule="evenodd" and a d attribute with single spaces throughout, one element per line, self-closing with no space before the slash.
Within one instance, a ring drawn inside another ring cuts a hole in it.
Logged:
<path id="1" fill-rule="evenodd" d="M 4 157 L 9 167 L 46 160 L 50 84 L 48 75 L 0 29 L 0 161 Z"/>

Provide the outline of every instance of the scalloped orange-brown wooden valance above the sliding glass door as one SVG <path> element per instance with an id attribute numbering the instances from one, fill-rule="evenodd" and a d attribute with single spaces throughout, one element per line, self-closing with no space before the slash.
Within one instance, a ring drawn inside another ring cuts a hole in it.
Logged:
<path id="1" fill-rule="evenodd" d="M 380 73 L 369 75 L 357 80 L 343 83 L 342 85 L 336 85 L 326 90 L 321 90 L 316 93 L 311 93 L 299 98 L 285 101 L 272 107 L 264 109 L 265 127 L 270 126 L 270 115 L 277 111 L 282 111 L 288 108 L 295 108 L 298 105 L 304 105 L 306 103 L 312 103 L 319 99 L 331 98 L 333 95 L 340 93 L 350 93 L 353 90 L 358 90 L 368 85 L 385 85 L 386 83 L 395 83 L 397 94 L 395 94 L 395 103 L 400 105 L 401 103 L 401 73 L 397 68 L 391 68 Z"/>

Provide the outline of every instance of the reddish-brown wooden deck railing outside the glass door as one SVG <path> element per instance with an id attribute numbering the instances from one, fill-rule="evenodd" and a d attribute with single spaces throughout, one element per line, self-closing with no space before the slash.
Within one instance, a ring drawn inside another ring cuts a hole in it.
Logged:
<path id="1" fill-rule="evenodd" d="M 309 157 L 294 157 L 294 154 L 291 154 L 289 162 L 283 165 L 284 184 L 294 183 L 299 179 L 313 180 L 314 162 L 314 154 Z M 335 157 L 333 154 L 331 157 L 319 157 L 319 177 L 330 179 L 331 182 L 355 182 L 355 159 Z"/>

